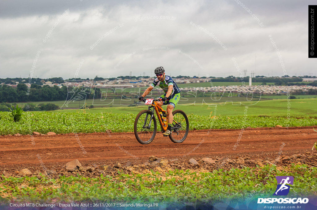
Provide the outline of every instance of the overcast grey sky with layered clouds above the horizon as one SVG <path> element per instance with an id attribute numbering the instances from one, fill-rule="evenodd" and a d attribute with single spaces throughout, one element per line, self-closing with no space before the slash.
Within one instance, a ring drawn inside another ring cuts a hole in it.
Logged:
<path id="1" fill-rule="evenodd" d="M 315 76 L 312 4 L 1 0 L 0 77 L 29 77 L 32 65 L 33 77 L 64 79 L 154 76 L 157 66 L 171 76 L 238 77 L 237 67 L 247 76 Z"/>

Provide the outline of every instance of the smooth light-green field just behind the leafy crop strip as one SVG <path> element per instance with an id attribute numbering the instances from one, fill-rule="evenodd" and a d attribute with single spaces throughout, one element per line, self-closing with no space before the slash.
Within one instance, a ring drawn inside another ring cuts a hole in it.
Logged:
<path id="1" fill-rule="evenodd" d="M 288 111 L 288 102 L 287 100 L 266 100 L 266 101 L 256 101 L 254 102 L 243 102 L 241 105 L 234 102 L 219 102 L 213 105 L 203 104 L 203 98 L 192 98 L 191 103 L 180 103 L 176 106 L 175 109 L 182 109 L 185 113 L 209 116 L 211 115 L 220 115 L 220 116 L 243 116 L 244 114 L 244 105 L 248 106 L 248 115 L 249 116 L 258 116 L 258 115 L 269 115 L 269 116 L 287 116 L 288 113 L 290 116 L 317 116 L 317 110 L 314 108 L 317 104 L 316 98 L 307 98 L 307 99 L 292 99 L 290 100 L 290 111 Z M 193 104 L 195 102 L 195 104 Z M 255 104 L 256 103 L 256 104 Z M 216 107 L 217 105 L 217 107 Z M 166 106 L 165 106 L 166 107 Z M 163 106 L 164 108 L 164 106 Z M 142 109 L 147 109 L 147 106 L 143 103 L 140 103 L 137 107 L 105 107 L 105 108 L 93 108 L 86 109 L 86 112 L 89 113 L 112 113 L 112 114 L 138 114 Z M 68 110 L 56 110 L 54 112 L 62 113 L 76 113 L 81 112 L 82 109 L 68 109 Z"/>

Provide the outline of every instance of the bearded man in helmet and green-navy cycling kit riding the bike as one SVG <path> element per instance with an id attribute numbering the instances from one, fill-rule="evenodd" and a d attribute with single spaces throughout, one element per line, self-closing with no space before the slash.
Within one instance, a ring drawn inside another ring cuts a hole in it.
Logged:
<path id="1" fill-rule="evenodd" d="M 160 88 L 163 89 L 165 94 L 159 97 L 161 101 L 158 102 L 159 106 L 166 105 L 167 104 L 167 129 L 163 133 L 163 135 L 170 135 L 171 134 L 171 127 L 172 127 L 172 121 L 173 121 L 173 109 L 175 108 L 175 105 L 178 103 L 180 98 L 180 90 L 177 87 L 177 84 L 172 79 L 172 77 L 165 75 L 165 70 L 163 66 L 159 66 L 154 70 L 154 73 L 157 78 L 154 79 L 150 87 L 148 87 L 142 96 L 139 97 L 139 100 L 142 101 L 145 96 L 147 96 L 151 90 L 156 86 L 159 85 Z"/>

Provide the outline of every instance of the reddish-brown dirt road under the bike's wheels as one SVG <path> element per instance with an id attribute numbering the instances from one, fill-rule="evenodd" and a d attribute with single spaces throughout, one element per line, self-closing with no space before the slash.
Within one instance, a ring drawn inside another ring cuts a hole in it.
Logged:
<path id="1" fill-rule="evenodd" d="M 33 136 L 34 141 L 30 135 L 0 136 L 0 170 L 37 169 L 41 161 L 48 169 L 58 169 L 74 159 L 83 165 L 126 163 L 128 160 L 140 164 L 151 155 L 168 159 L 276 158 L 279 151 L 282 155 L 312 152 L 317 141 L 317 132 L 312 127 L 250 128 L 242 132 L 238 141 L 240 129 L 190 131 L 181 144 L 157 133 L 149 145 L 139 144 L 133 133 L 78 134 L 78 139 L 75 134 Z"/>

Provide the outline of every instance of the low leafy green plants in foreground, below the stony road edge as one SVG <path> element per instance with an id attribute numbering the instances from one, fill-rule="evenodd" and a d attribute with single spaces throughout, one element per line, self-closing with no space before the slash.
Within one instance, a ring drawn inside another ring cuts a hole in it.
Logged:
<path id="1" fill-rule="evenodd" d="M 211 172 L 176 169 L 118 173 L 118 176 L 100 175 L 97 178 L 77 175 L 49 179 L 42 176 L 40 180 L 36 176 L 3 176 L 0 182 L 0 201 L 144 202 L 176 205 L 196 201 L 211 203 L 226 199 L 251 200 L 272 195 L 276 189 L 275 176 L 294 176 L 289 196 L 314 195 L 317 191 L 317 168 L 304 164 L 292 164 L 283 168 L 266 165 Z"/>

